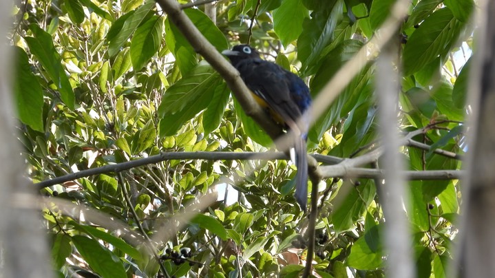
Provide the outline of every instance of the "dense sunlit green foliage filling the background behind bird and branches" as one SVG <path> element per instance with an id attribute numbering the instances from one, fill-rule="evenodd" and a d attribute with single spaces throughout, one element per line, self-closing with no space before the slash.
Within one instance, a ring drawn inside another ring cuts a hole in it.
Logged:
<path id="1" fill-rule="evenodd" d="M 250 38 L 266 58 L 305 78 L 317 96 L 379 34 L 393 3 L 220 1 L 216 24 L 204 6 L 185 12 L 217 50 Z M 433 150 L 463 153 L 468 74 L 461 65 L 471 52 L 472 10 L 472 0 L 414 0 L 399 28 L 401 128 L 430 125 L 413 139 L 432 146 L 404 147 L 411 170 L 461 167 Z M 162 151 L 266 151 L 271 142 L 154 1 L 27 0 L 14 16 L 14 96 L 34 182 Z M 374 82 L 369 63 L 317 119 L 309 135 L 311 153 L 349 158 L 375 142 Z M 44 192 L 149 236 L 179 221 L 177 215 L 215 184 L 233 184 L 240 198 L 212 204 L 152 251 L 142 242 L 126 242 L 118 229 L 46 208 L 53 266 L 61 277 L 155 277 L 155 255 L 161 256 L 162 271 L 175 277 L 297 277 L 302 270 L 306 215 L 291 194 L 295 171 L 287 162 L 168 160 L 120 174 L 81 178 Z M 380 200 L 386 196 L 380 186 L 366 179 L 329 179 L 321 186 L 317 275 L 383 276 Z M 410 195 L 406 210 L 418 275 L 443 277 L 456 233 L 459 182 L 410 182 Z"/>

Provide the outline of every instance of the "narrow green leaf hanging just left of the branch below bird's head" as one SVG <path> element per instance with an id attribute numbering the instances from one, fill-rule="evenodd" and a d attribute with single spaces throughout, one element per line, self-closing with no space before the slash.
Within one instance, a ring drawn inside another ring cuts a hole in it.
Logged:
<path id="1" fill-rule="evenodd" d="M 213 98 L 203 114 L 204 133 L 211 133 L 211 131 L 218 129 L 220 126 L 225 107 L 227 107 L 227 103 L 229 102 L 229 93 L 230 90 L 229 87 L 227 87 L 227 83 L 220 83 L 220 85 L 215 88 Z"/>

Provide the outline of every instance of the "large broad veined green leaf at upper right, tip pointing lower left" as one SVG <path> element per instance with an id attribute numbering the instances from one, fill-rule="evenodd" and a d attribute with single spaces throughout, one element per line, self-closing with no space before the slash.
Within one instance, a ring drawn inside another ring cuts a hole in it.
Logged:
<path id="1" fill-rule="evenodd" d="M 425 19 L 404 47 L 404 75 L 418 72 L 435 58 L 448 52 L 459 36 L 461 27 L 461 22 L 447 8 L 436 10 Z"/>

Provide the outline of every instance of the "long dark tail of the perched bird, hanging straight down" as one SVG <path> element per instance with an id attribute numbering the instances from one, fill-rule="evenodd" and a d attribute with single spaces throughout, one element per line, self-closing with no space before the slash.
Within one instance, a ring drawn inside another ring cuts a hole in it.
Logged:
<path id="1" fill-rule="evenodd" d="M 295 175 L 294 197 L 297 204 L 306 211 L 308 205 L 308 156 L 306 153 L 306 140 L 304 136 L 295 138 L 295 164 L 297 173 Z"/>

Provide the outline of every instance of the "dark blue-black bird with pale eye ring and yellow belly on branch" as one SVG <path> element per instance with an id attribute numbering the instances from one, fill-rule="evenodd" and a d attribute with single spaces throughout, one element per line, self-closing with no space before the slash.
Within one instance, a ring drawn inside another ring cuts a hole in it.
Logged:
<path id="1" fill-rule="evenodd" d="M 264 61 L 260 53 L 249 45 L 236 45 L 222 52 L 238 69 L 256 102 L 267 108 L 272 118 L 295 134 L 295 164 L 297 167 L 295 199 L 306 211 L 308 203 L 308 161 L 306 138 L 311 105 L 308 86 L 299 76 L 275 63 Z M 304 118 L 302 118 L 304 117 Z"/>

